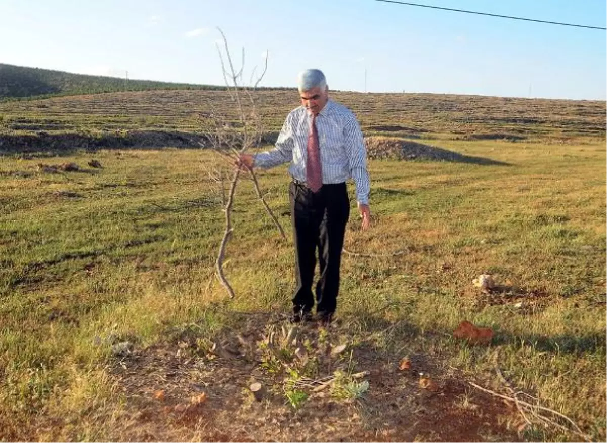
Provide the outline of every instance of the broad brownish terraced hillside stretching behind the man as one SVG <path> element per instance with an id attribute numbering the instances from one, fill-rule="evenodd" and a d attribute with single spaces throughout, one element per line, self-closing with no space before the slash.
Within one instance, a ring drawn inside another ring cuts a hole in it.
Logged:
<path id="1" fill-rule="evenodd" d="M 472 95 L 331 92 L 361 122 L 378 158 L 396 157 L 412 140 L 577 144 L 605 141 L 607 103 Z M 263 141 L 276 140 L 284 116 L 297 105 L 293 90 L 263 89 L 257 106 Z M 0 156 L 119 147 L 195 147 L 212 129 L 211 110 L 237 121 L 225 90 L 147 90 L 52 96 L 0 103 Z M 405 143 L 405 141 L 407 143 Z M 405 143 L 405 144 L 403 144 Z M 415 152 L 409 152 L 413 150 Z M 398 151 L 398 149 L 397 149 Z M 436 150 L 434 149 L 433 152 Z"/>

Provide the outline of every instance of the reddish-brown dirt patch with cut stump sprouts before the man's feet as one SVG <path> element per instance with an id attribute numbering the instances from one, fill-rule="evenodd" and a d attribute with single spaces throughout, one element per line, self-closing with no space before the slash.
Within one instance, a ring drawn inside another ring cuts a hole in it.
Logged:
<path id="1" fill-rule="evenodd" d="M 377 331 L 353 337 L 357 328 L 348 321 L 294 329 L 263 313 L 242 316 L 238 325 L 213 337 L 186 331 L 176 342 L 121 355 L 114 377 L 126 414 L 118 440 L 515 438 L 504 423 L 514 408 L 470 391 L 425 353 L 409 353 L 410 367 L 399 368 L 397 351 L 375 343 Z M 401 339 L 405 329 L 402 323 L 386 328 Z M 432 374 L 433 389 L 421 383 L 421 372 Z M 259 398 L 251 393 L 254 384 L 264 388 Z"/>

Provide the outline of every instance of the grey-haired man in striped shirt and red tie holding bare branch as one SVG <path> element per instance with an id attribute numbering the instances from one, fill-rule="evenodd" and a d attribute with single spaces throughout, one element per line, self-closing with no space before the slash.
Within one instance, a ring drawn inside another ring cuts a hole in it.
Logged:
<path id="1" fill-rule="evenodd" d="M 290 162 L 291 222 L 296 252 L 293 322 L 311 320 L 312 285 L 319 252 L 316 316 L 328 325 L 337 308 L 339 269 L 350 202 L 345 181 L 353 178 L 362 229 L 371 224 L 367 152 L 354 114 L 329 99 L 327 80 L 317 69 L 299 75 L 302 106 L 289 113 L 276 147 L 257 156 L 243 154 L 248 168 Z"/>

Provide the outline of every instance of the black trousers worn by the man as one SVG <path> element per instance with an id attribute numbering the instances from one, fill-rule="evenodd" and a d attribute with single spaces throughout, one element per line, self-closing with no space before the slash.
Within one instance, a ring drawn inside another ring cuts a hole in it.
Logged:
<path id="1" fill-rule="evenodd" d="M 337 308 L 339 268 L 350 214 L 346 184 L 323 184 L 314 194 L 304 184 L 291 182 L 289 191 L 296 272 L 293 309 L 311 311 L 314 307 L 312 285 L 318 251 L 316 312 L 331 314 Z"/>

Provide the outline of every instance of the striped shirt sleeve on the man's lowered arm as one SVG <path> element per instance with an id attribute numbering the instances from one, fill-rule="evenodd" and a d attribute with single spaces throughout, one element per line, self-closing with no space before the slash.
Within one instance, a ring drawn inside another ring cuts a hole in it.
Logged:
<path id="1" fill-rule="evenodd" d="M 367 148 L 362 138 L 361 127 L 353 115 L 345 123 L 344 141 L 350 177 L 356 186 L 356 201 L 362 205 L 368 205 L 370 183 L 367 172 Z"/>

